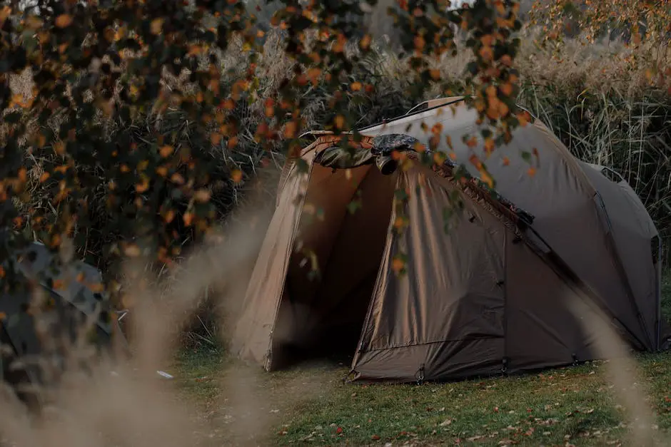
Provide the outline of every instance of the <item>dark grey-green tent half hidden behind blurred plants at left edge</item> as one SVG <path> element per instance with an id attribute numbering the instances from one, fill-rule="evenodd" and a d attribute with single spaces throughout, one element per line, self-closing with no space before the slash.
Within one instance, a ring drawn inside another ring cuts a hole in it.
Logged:
<path id="1" fill-rule="evenodd" d="M 109 348 L 113 336 L 121 346 L 126 346 L 116 317 L 106 309 L 109 305 L 106 295 L 98 292 L 101 272 L 81 261 L 54 269 L 52 260 L 54 255 L 45 245 L 30 243 L 17 253 L 13 271 L 33 285 L 0 294 L 0 341 L 9 348 L 0 359 L 0 378 L 14 386 L 17 395 L 34 408 L 39 406 L 39 398 L 24 391 L 24 387 L 54 379 L 51 374 L 54 371 L 44 369 L 44 364 L 41 366 L 36 359 L 56 359 L 56 365 L 62 365 L 83 327 L 90 329 L 85 334 L 86 341 L 98 348 Z M 3 267 L 5 271 L 11 268 L 9 262 Z M 38 302 L 39 318 L 31 312 L 36 297 L 42 300 Z M 38 327 L 44 332 L 40 334 Z"/>

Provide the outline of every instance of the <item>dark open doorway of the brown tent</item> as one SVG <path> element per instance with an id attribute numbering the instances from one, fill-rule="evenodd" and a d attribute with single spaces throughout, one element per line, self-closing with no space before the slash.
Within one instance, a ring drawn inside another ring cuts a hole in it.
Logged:
<path id="1" fill-rule="evenodd" d="M 396 175 L 313 165 L 273 333 L 273 369 L 353 355 L 382 261 Z M 315 271 L 316 267 L 316 271 Z"/>

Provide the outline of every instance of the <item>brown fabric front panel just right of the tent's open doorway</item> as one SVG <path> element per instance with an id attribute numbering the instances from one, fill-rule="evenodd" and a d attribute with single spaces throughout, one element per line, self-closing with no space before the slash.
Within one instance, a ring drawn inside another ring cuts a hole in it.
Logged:
<path id="1" fill-rule="evenodd" d="M 410 192 L 410 226 L 388 237 L 353 369 L 409 380 L 420 370 L 433 380 L 500 369 L 503 225 L 465 197 L 465 210 L 445 220 L 453 186 L 426 168 L 399 181 Z M 407 273 L 398 276 L 393 267 L 401 254 Z"/>

